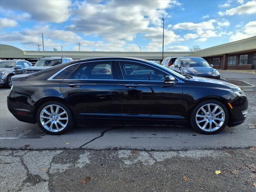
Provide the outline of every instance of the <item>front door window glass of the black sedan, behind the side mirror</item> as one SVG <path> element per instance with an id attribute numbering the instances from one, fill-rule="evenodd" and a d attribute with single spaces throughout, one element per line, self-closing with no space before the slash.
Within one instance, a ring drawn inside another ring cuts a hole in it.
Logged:
<path id="1" fill-rule="evenodd" d="M 146 64 L 136 62 L 120 62 L 124 80 L 143 80 L 143 81 L 163 81 L 162 71 L 150 67 Z"/>

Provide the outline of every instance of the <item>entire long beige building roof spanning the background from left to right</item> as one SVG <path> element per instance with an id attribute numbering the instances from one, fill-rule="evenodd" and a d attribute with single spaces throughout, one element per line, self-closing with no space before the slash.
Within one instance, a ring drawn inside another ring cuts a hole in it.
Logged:
<path id="1" fill-rule="evenodd" d="M 256 50 L 256 36 L 234 41 L 196 52 L 164 52 L 164 58 L 170 56 L 195 56 L 207 57 L 218 56 L 227 53 L 248 52 Z M 73 59 L 94 58 L 94 57 L 134 57 L 147 60 L 162 60 L 162 52 L 106 52 L 106 51 L 23 51 L 10 45 L 0 44 L 0 58 L 42 58 L 69 57 Z"/>

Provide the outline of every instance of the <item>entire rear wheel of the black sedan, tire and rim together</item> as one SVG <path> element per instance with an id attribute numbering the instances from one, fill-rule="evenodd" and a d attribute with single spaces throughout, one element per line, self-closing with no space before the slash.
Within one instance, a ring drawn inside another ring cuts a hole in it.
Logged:
<path id="1" fill-rule="evenodd" d="M 36 120 L 44 132 L 58 135 L 72 127 L 73 115 L 68 106 L 62 102 L 49 101 L 40 106 Z"/>

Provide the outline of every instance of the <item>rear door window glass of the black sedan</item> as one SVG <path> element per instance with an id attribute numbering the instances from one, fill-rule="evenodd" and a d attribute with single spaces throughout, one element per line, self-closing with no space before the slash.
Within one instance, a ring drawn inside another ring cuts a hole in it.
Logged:
<path id="1" fill-rule="evenodd" d="M 111 62 L 104 61 L 80 64 L 80 66 L 74 72 L 72 72 L 72 74 L 66 77 L 66 79 L 111 80 L 113 79 Z"/>

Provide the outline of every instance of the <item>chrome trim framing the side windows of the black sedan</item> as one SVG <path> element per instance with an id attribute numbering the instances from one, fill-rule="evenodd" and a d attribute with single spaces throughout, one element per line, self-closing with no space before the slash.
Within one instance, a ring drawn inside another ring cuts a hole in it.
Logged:
<path id="1" fill-rule="evenodd" d="M 80 63 L 72 64 L 72 65 L 66 66 L 66 67 L 64 67 L 62 70 L 56 72 L 54 75 L 52 75 L 52 76 L 51 76 L 50 78 L 48 78 L 47 80 L 58 80 L 58 81 L 59 81 L 59 80 L 86 80 L 86 81 L 92 81 L 92 80 L 116 81 L 116 80 L 118 80 L 118 79 L 53 79 L 55 76 L 57 76 L 57 75 L 60 74 L 62 71 L 64 71 L 65 69 L 67 69 L 67 68 L 69 68 L 69 67 L 71 67 L 71 66 L 78 65 L 78 64 L 83 64 L 83 63 L 102 62 L 102 61 L 128 61 L 128 62 L 136 62 L 136 63 L 148 65 L 148 66 L 153 67 L 153 68 L 155 68 L 155 69 L 157 69 L 157 70 L 160 70 L 160 71 L 162 71 L 162 72 L 164 72 L 164 73 L 166 73 L 166 74 L 168 74 L 168 75 L 174 76 L 174 75 L 171 74 L 170 72 L 166 72 L 166 71 L 164 71 L 164 70 L 162 70 L 162 69 L 159 69 L 159 68 L 157 68 L 157 67 L 155 67 L 155 66 L 152 66 L 152 65 L 150 65 L 150 64 L 148 64 L 148 63 L 146 63 L 146 62 L 139 62 L 139 61 L 135 61 L 135 60 L 125 60 L 125 59 L 117 59 L 117 60 L 110 59 L 110 60 L 93 60 L 93 61 L 86 61 L 86 62 L 80 62 Z M 118 64 L 119 64 L 119 66 L 120 66 L 120 63 L 119 63 L 119 62 L 118 62 Z M 122 72 L 121 66 L 120 66 L 120 70 L 121 70 L 121 72 Z M 123 74 L 122 74 L 122 76 L 123 76 Z M 184 81 L 180 80 L 180 79 L 177 78 L 176 76 L 174 76 L 174 78 L 175 78 L 176 80 L 178 80 L 179 83 L 184 83 Z M 147 81 L 147 80 L 118 80 L 118 81 L 163 82 L 163 81 Z"/>

